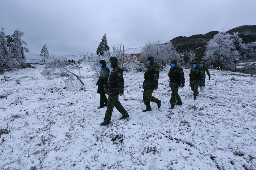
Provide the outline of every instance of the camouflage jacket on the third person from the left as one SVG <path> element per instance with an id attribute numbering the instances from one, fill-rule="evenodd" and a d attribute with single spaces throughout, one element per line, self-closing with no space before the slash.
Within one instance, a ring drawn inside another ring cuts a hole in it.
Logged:
<path id="1" fill-rule="evenodd" d="M 154 89 L 158 87 L 159 69 L 158 66 L 152 64 L 148 66 L 148 70 L 144 73 L 143 89 Z"/>

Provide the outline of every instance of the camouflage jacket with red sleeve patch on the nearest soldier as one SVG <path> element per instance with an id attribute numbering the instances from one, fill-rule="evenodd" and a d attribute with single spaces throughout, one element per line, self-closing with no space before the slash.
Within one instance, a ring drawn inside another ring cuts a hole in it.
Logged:
<path id="1" fill-rule="evenodd" d="M 119 66 L 116 66 L 110 72 L 106 88 L 108 88 L 108 95 L 115 95 L 124 92 L 123 71 Z"/>

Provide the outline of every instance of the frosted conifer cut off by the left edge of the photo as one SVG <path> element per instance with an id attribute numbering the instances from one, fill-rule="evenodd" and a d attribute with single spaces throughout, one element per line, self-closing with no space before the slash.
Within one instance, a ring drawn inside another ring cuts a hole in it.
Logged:
<path id="1" fill-rule="evenodd" d="M 0 72 L 10 66 L 10 53 L 5 38 L 4 28 L 0 32 Z"/>

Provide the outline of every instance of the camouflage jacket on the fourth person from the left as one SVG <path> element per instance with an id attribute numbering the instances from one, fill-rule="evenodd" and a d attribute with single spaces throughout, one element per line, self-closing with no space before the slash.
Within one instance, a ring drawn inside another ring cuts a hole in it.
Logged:
<path id="1" fill-rule="evenodd" d="M 185 86 L 183 69 L 180 66 L 171 67 L 169 71 L 170 87 Z"/>

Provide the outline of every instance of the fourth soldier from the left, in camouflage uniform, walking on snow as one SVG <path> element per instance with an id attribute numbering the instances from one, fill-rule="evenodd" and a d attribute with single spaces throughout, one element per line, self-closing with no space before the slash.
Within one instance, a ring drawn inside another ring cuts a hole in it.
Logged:
<path id="1" fill-rule="evenodd" d="M 185 78 L 184 78 L 183 69 L 177 65 L 177 60 L 175 59 L 171 60 L 171 64 L 175 64 L 175 66 L 170 68 L 170 71 L 168 72 L 168 76 L 170 78 L 169 86 L 172 90 L 172 97 L 170 99 L 170 104 L 171 104 L 170 108 L 174 109 L 176 100 L 178 105 L 182 105 L 181 98 L 178 94 L 178 89 L 180 87 L 180 84 L 182 87 L 185 86 Z"/>

